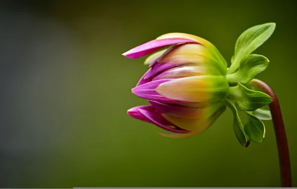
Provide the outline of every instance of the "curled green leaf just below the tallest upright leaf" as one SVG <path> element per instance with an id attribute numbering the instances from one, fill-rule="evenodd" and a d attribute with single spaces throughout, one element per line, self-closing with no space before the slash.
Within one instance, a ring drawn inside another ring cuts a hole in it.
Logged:
<path id="1" fill-rule="evenodd" d="M 231 84 L 247 84 L 258 74 L 266 70 L 269 60 L 262 55 L 251 54 L 245 56 L 234 74 L 227 75 L 227 80 Z"/>

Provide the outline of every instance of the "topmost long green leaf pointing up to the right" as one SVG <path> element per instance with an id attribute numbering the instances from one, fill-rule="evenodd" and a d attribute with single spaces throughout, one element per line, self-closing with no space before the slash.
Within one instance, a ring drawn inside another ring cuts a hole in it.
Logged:
<path id="1" fill-rule="evenodd" d="M 233 64 L 228 73 L 234 73 L 242 58 L 260 47 L 272 35 L 275 28 L 276 23 L 265 23 L 245 30 L 236 41 Z"/>

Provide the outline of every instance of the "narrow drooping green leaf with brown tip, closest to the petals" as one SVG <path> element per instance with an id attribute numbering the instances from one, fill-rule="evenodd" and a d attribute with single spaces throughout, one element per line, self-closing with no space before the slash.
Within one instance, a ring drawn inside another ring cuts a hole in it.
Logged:
<path id="1" fill-rule="evenodd" d="M 237 108 L 229 99 L 226 99 L 226 102 L 227 102 L 228 107 L 233 112 L 233 116 L 234 116 L 233 129 L 234 129 L 236 138 L 237 138 L 238 142 L 242 146 L 248 147 L 249 144 L 250 144 L 250 139 L 249 139 L 248 135 L 244 131 L 241 119 L 240 119 L 240 117 L 238 115 Z"/>

